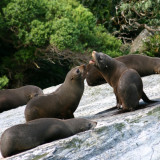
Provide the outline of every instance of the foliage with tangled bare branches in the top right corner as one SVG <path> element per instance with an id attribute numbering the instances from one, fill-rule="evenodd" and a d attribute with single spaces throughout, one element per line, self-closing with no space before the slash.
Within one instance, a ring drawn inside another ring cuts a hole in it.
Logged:
<path id="1" fill-rule="evenodd" d="M 160 18 L 160 1 L 145 0 L 145 1 L 128 1 L 121 2 L 119 13 L 124 12 L 127 19 L 136 18 L 137 22 L 152 26 L 159 26 Z M 147 17 L 147 18 L 146 18 Z"/>

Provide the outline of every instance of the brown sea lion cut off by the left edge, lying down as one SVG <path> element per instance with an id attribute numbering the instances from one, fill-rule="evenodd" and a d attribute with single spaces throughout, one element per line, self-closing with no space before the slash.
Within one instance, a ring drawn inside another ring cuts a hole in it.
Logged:
<path id="1" fill-rule="evenodd" d="M 43 95 L 43 91 L 33 85 L 0 90 L 0 113 L 25 105 L 30 99 L 38 95 Z"/>

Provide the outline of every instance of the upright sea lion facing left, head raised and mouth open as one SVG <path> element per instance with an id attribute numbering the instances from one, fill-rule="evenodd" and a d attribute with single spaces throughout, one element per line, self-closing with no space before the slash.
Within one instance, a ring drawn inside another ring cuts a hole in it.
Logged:
<path id="1" fill-rule="evenodd" d="M 93 64 L 113 87 L 118 108 L 122 105 L 124 111 L 135 110 L 141 98 L 150 102 L 136 70 L 129 69 L 124 63 L 101 52 L 93 51 L 92 58 L 90 64 Z"/>

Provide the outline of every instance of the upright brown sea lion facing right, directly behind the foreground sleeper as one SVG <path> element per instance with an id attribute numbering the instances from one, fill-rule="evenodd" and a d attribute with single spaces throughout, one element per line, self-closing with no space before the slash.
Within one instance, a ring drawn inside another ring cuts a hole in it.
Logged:
<path id="1" fill-rule="evenodd" d="M 84 91 L 86 66 L 81 65 L 70 70 L 64 83 L 53 93 L 38 96 L 29 101 L 25 109 L 26 121 L 37 118 L 74 118 Z"/>

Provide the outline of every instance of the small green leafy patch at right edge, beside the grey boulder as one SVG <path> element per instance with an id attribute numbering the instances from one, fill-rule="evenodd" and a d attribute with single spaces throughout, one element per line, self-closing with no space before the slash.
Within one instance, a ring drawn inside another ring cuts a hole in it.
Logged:
<path id="1" fill-rule="evenodd" d="M 146 50 L 145 54 L 148 56 L 156 56 L 160 57 L 160 35 L 155 34 L 149 38 L 149 41 L 145 42 L 144 44 Z"/>

